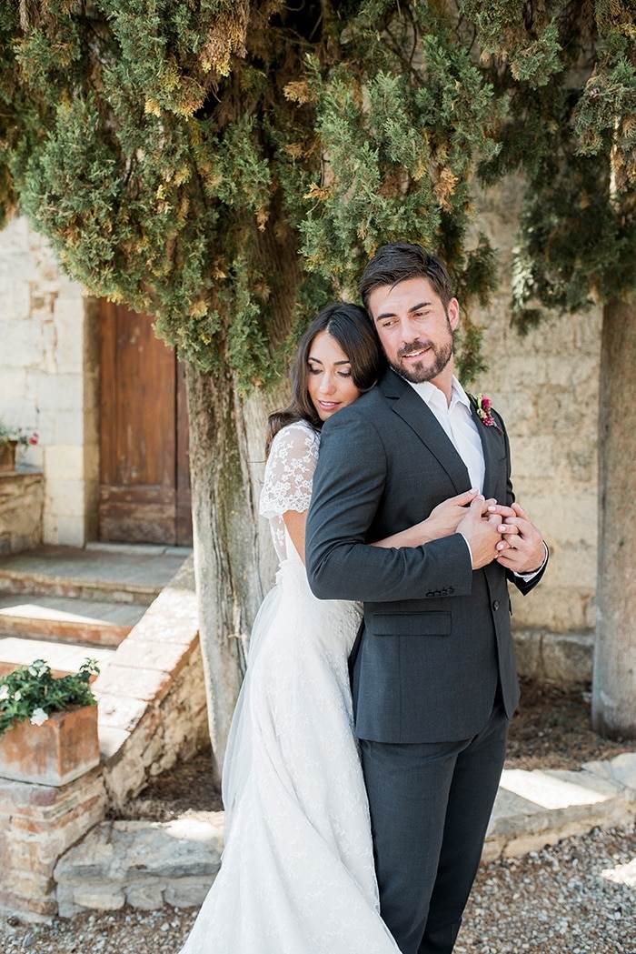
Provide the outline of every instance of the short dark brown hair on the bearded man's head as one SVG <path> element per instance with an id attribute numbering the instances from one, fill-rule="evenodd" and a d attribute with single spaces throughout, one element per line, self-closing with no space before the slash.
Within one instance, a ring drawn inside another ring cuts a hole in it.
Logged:
<path id="1" fill-rule="evenodd" d="M 430 255 L 421 245 L 396 241 L 382 245 L 364 269 L 360 295 L 369 314 L 369 296 L 375 288 L 397 285 L 407 279 L 427 279 L 433 291 L 440 296 L 444 308 L 453 298 L 450 276 L 443 261 L 436 255 Z"/>

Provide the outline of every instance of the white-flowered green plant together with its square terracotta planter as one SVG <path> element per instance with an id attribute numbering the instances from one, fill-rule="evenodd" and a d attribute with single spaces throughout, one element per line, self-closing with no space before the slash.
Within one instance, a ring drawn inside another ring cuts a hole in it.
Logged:
<path id="1" fill-rule="evenodd" d="M 36 659 L 0 676 L 0 777 L 66 785 L 99 763 L 97 700 L 87 659 L 76 674 L 53 676 Z"/>

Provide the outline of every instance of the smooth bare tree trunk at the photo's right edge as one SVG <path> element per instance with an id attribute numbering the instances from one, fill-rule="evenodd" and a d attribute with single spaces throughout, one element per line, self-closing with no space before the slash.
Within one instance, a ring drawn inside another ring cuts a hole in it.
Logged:
<path id="1" fill-rule="evenodd" d="M 636 304 L 605 305 L 599 406 L 599 564 L 592 724 L 636 738 Z"/>

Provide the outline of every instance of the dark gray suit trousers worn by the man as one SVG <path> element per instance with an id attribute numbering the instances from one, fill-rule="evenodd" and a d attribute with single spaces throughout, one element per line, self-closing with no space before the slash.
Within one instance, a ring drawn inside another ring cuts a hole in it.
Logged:
<path id="1" fill-rule="evenodd" d="M 508 719 L 498 699 L 473 738 L 360 740 L 380 912 L 403 954 L 451 954 L 503 769 Z"/>

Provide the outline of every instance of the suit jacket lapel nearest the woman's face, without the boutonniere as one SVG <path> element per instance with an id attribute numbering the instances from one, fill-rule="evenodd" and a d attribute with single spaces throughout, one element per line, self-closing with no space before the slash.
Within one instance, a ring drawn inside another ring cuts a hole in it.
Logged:
<path id="1" fill-rule="evenodd" d="M 468 470 L 452 441 L 419 394 L 403 381 L 395 371 L 388 369 L 379 386 L 388 399 L 392 410 L 399 415 L 427 446 L 441 467 L 448 474 L 456 493 L 470 487 Z M 486 471 L 487 472 L 487 471 Z"/>

